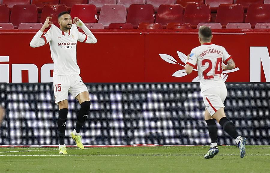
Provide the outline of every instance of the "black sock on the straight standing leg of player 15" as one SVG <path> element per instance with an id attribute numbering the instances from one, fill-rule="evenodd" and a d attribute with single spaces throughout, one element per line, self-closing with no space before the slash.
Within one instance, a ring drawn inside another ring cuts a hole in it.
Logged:
<path id="1" fill-rule="evenodd" d="M 66 130 L 67 108 L 59 110 L 59 116 L 57 119 L 59 144 L 64 145 L 65 130 Z"/>

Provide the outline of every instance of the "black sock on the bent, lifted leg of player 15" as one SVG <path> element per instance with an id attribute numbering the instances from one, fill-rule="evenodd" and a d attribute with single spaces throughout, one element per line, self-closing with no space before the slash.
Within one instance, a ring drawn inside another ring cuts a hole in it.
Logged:
<path id="1" fill-rule="evenodd" d="M 76 133 L 81 132 L 82 125 L 84 124 L 87 115 L 89 113 L 89 109 L 91 106 L 90 101 L 85 101 L 81 103 L 81 109 L 79 110 L 78 116 L 77 116 L 77 122 L 75 126 Z"/>

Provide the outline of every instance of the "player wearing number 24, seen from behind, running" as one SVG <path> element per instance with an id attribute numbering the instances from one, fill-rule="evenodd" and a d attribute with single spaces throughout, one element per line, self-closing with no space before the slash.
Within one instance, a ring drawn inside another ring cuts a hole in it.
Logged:
<path id="1" fill-rule="evenodd" d="M 223 70 L 233 69 L 235 63 L 224 47 L 211 43 L 212 38 L 211 29 L 207 26 L 201 26 L 199 28 L 201 46 L 191 50 L 185 65 L 186 73 L 190 74 L 197 64 L 200 88 L 206 106 L 204 118 L 208 126 L 211 144 L 204 158 L 213 158 L 219 151 L 217 147 L 217 125 L 214 119 L 235 140 L 240 149 L 240 157 L 243 158 L 247 139 L 239 136 L 232 122 L 227 119 L 223 104 L 227 96 L 227 88 L 222 80 L 222 72 Z M 226 64 L 223 67 L 222 61 Z"/>

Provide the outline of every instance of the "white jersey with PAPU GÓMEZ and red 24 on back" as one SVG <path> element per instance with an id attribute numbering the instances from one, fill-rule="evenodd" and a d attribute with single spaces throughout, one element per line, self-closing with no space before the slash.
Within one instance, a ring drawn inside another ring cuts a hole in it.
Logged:
<path id="1" fill-rule="evenodd" d="M 222 62 L 225 64 L 232 57 L 224 47 L 213 43 L 204 43 L 191 50 L 187 64 L 198 69 L 201 91 L 213 87 L 224 87 Z"/>

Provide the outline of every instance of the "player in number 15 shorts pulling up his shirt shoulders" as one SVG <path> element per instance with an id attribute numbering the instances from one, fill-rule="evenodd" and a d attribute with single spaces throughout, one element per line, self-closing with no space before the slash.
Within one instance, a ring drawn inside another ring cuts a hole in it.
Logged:
<path id="1" fill-rule="evenodd" d="M 51 19 L 51 17 L 46 18 L 41 30 L 33 37 L 30 46 L 39 47 L 47 43 L 50 45 L 51 57 L 54 64 L 53 86 L 55 103 L 59 106 L 59 116 L 57 120 L 59 153 L 67 154 L 64 137 L 68 112 L 68 92 L 70 92 L 81 105 L 75 129 L 70 133 L 70 137 L 76 142 L 77 147 L 80 149 L 84 149 L 80 130 L 87 118 L 91 105 L 88 89 L 79 76 L 80 69 L 76 61 L 77 41 L 82 43 L 97 43 L 97 39 L 78 17 L 75 17 L 72 21 L 67 11 L 61 12 L 58 15 L 60 28 L 53 25 L 49 19 Z M 44 29 L 50 25 L 51 28 L 42 36 Z M 77 26 L 81 27 L 85 34 L 79 32 Z"/>

